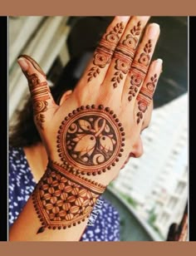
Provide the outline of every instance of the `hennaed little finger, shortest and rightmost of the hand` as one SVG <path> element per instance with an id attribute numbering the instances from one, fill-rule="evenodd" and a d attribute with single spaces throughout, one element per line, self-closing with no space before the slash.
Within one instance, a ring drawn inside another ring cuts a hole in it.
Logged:
<path id="1" fill-rule="evenodd" d="M 158 59 L 152 62 L 149 66 L 148 74 L 145 77 L 145 81 L 135 101 L 135 116 L 137 124 L 141 123 L 142 125 L 141 120 L 144 119 L 145 112 L 152 103 L 154 91 L 162 71 L 162 63 L 163 61 Z"/>

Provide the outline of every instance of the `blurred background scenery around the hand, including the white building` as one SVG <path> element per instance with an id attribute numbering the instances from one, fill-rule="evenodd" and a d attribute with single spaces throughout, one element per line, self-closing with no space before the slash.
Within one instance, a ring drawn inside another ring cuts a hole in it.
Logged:
<path id="1" fill-rule="evenodd" d="M 32 56 L 49 84 L 76 84 L 113 17 L 9 17 L 9 125 L 27 100 L 17 57 Z M 160 25 L 153 59 L 163 73 L 154 94 L 145 154 L 131 159 L 103 196 L 120 213 L 121 241 L 164 241 L 188 200 L 188 17 L 151 17 Z M 67 74 L 69 74 L 67 78 Z"/>

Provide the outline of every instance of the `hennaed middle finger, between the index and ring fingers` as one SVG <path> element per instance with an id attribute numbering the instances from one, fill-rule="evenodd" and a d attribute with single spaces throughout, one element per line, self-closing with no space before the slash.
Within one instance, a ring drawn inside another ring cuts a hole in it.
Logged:
<path id="1" fill-rule="evenodd" d="M 130 65 L 135 56 L 135 50 L 140 41 L 141 34 L 149 17 L 132 17 L 120 42 L 115 48 L 110 67 L 105 76 L 103 86 L 110 92 L 115 89 L 117 95 L 121 95 L 125 78 L 130 70 Z"/>

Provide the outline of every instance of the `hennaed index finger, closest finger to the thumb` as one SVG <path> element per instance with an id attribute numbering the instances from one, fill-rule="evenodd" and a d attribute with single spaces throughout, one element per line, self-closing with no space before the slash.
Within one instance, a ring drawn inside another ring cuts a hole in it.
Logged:
<path id="1" fill-rule="evenodd" d="M 81 78 L 82 85 L 86 85 L 86 82 L 92 86 L 96 86 L 97 84 L 100 85 L 102 83 L 108 66 L 110 65 L 115 47 L 125 31 L 125 27 L 129 19 L 129 16 L 117 16 L 110 23 L 109 27 L 107 27 L 98 47 L 96 47 L 94 57 Z M 97 83 L 96 80 L 98 77 L 99 83 Z"/>

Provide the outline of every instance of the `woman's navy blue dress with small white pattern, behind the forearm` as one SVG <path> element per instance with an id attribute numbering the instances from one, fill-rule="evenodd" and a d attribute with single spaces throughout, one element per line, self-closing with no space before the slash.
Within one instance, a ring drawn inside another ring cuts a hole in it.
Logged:
<path id="1" fill-rule="evenodd" d="M 35 188 L 31 169 L 22 148 L 9 147 L 9 227 L 22 211 L 27 199 Z M 119 241 L 120 217 L 107 200 L 103 201 L 93 225 L 87 225 L 81 241 Z M 96 208 L 96 206 L 95 206 Z"/>

